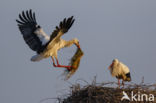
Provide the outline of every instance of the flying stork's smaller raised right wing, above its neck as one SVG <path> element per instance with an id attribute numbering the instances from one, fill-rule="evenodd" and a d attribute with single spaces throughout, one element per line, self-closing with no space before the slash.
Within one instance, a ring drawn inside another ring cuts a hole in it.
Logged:
<path id="1" fill-rule="evenodd" d="M 54 38 L 59 39 L 64 33 L 68 32 L 74 21 L 75 19 L 73 19 L 73 16 L 69 17 L 68 19 L 64 18 L 64 20 L 60 22 L 59 26 L 56 26 L 55 30 L 52 32 L 50 41 L 52 41 Z"/>

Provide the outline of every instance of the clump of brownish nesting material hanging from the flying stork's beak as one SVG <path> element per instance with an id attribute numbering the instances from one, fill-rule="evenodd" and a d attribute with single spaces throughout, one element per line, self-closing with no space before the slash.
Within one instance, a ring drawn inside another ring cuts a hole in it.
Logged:
<path id="1" fill-rule="evenodd" d="M 77 71 L 82 56 L 83 51 L 80 48 L 77 48 L 77 51 L 75 52 L 69 63 L 69 66 L 71 66 L 70 70 L 66 69 L 64 72 L 65 80 L 68 80 Z"/>

